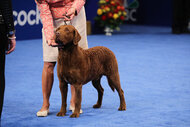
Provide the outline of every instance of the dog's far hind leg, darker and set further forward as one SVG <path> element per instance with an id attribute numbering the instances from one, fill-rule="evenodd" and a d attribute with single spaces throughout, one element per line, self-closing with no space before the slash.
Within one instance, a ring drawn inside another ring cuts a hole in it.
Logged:
<path id="1" fill-rule="evenodd" d="M 101 79 L 101 77 L 98 80 L 92 81 L 93 86 L 98 91 L 98 100 L 97 100 L 97 103 L 95 105 L 93 105 L 93 108 L 100 108 L 102 105 L 102 98 L 103 98 L 104 89 L 102 88 L 102 86 L 100 84 L 100 79 Z"/>

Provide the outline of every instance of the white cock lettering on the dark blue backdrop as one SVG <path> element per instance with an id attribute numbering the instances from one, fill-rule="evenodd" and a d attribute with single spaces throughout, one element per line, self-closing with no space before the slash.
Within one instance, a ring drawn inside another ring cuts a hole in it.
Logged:
<path id="1" fill-rule="evenodd" d="M 36 6 L 36 10 L 30 10 L 28 13 L 25 10 L 20 12 L 13 11 L 15 17 L 14 25 L 24 26 L 27 23 L 29 25 L 38 25 L 41 22 L 40 12 Z"/>

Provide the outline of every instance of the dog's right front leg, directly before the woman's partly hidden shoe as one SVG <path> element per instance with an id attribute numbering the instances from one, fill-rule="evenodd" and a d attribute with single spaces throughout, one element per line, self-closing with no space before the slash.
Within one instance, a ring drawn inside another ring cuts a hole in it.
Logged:
<path id="1" fill-rule="evenodd" d="M 75 118 L 79 117 L 82 101 L 82 84 L 74 84 L 75 88 L 75 111 L 70 117 Z"/>

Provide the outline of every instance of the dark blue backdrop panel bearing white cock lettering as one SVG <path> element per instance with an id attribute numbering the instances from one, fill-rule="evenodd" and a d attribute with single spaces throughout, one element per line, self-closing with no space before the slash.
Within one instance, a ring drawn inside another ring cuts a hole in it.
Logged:
<path id="1" fill-rule="evenodd" d="M 18 40 L 41 38 L 42 24 L 34 0 L 12 0 Z"/>

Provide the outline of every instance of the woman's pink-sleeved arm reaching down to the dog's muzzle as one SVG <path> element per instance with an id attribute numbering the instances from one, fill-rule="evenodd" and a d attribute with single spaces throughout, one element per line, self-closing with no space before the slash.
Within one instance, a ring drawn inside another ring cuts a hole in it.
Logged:
<path id="1" fill-rule="evenodd" d="M 43 31 L 45 34 L 45 38 L 47 40 L 48 45 L 52 45 L 54 43 L 54 27 L 53 27 L 53 17 L 49 8 L 49 4 L 46 0 L 41 0 L 41 2 L 37 2 L 35 0 L 38 9 L 40 10 L 40 17 L 42 19 Z"/>

